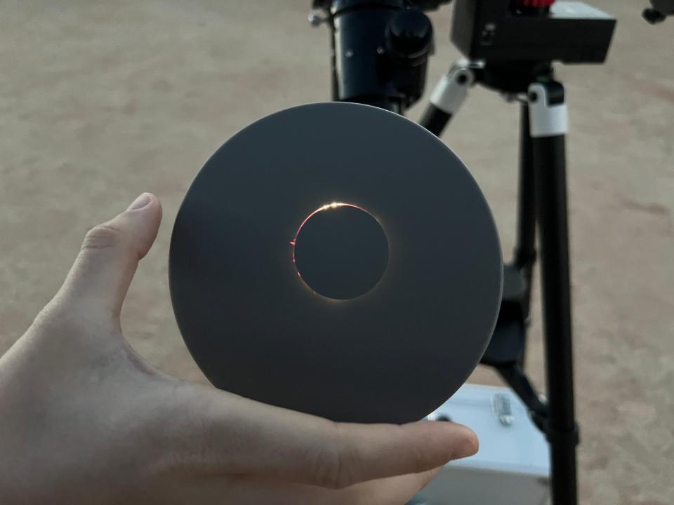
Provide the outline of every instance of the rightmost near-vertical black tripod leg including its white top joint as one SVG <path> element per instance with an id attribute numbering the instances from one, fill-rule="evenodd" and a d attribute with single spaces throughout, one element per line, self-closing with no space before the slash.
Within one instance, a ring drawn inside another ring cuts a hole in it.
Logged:
<path id="1" fill-rule="evenodd" d="M 541 248 L 543 333 L 548 380 L 548 420 L 553 504 L 575 505 L 576 444 L 571 288 L 564 135 L 564 87 L 555 81 L 529 87 L 536 218 Z"/>

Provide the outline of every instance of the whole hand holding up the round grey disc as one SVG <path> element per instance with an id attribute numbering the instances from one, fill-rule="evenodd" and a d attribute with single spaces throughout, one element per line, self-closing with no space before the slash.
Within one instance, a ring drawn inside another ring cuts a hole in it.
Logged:
<path id="1" fill-rule="evenodd" d="M 89 231 L 0 358 L 0 503 L 404 504 L 477 451 L 457 424 L 338 424 L 152 368 L 119 314 L 160 221 L 146 193 Z"/>

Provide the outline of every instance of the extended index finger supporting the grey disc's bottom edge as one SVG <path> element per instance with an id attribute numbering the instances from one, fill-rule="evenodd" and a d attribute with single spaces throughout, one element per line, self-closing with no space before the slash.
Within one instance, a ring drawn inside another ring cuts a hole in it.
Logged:
<path id="1" fill-rule="evenodd" d="M 169 433 L 192 470 L 343 488 L 477 452 L 475 433 L 449 422 L 337 424 L 196 384 L 172 400 Z"/>

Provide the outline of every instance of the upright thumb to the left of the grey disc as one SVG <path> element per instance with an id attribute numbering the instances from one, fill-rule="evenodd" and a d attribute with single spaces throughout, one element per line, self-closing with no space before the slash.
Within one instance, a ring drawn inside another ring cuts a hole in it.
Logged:
<path id="1" fill-rule="evenodd" d="M 93 227 L 57 295 L 60 302 L 119 318 L 138 262 L 150 250 L 160 222 L 159 200 L 143 193 L 123 213 Z"/>

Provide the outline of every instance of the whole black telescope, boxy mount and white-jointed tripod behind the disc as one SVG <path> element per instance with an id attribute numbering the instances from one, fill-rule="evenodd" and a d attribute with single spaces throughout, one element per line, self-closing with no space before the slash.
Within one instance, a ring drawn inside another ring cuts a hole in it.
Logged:
<path id="1" fill-rule="evenodd" d="M 433 32 L 423 10 L 450 0 L 314 0 L 329 22 L 333 100 L 398 114 L 423 94 Z M 669 0 L 667 0 L 669 1 Z M 421 126 L 440 135 L 470 86 L 480 83 L 521 102 L 517 239 L 504 267 L 496 330 L 482 363 L 494 367 L 522 399 L 550 445 L 555 505 L 575 505 L 576 445 L 569 281 L 564 86 L 553 61 L 600 63 L 615 20 L 579 2 L 456 0 L 452 41 L 468 59 L 433 91 Z M 574 38 L 569 40 L 569 34 Z M 572 42 L 572 43 L 571 43 Z M 540 247 L 547 399 L 524 373 L 531 278 Z"/>

